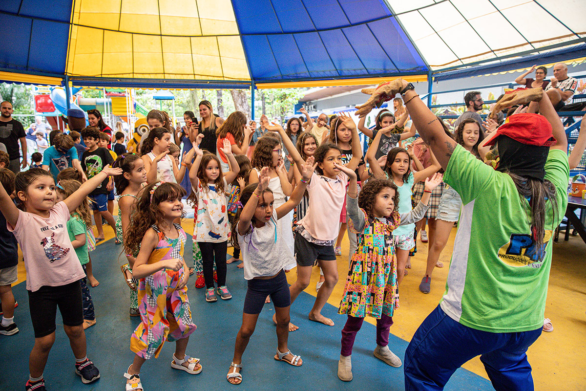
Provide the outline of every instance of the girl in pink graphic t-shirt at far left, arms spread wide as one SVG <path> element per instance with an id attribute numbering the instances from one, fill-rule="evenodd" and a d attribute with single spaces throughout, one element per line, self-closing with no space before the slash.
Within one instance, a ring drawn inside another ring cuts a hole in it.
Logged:
<path id="1" fill-rule="evenodd" d="M 59 203 L 56 203 L 55 181 L 49 171 L 31 168 L 19 172 L 15 181 L 16 196 L 26 212 L 16 208 L 4 186 L 0 186 L 0 210 L 8 229 L 21 245 L 25 259 L 30 318 L 35 331 L 27 390 L 45 388 L 43 370 L 55 341 L 57 306 L 76 358 L 76 373 L 83 383 L 100 378 L 100 372 L 86 356 L 80 285 L 81 278 L 86 275 L 71 245 L 67 220 L 104 179 L 121 172 L 120 168 L 106 166 Z"/>

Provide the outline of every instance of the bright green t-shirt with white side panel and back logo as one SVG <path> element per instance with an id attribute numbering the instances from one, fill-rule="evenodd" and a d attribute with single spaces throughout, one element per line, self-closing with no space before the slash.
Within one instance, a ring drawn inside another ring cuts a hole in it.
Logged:
<path id="1" fill-rule="evenodd" d="M 488 332 L 522 332 L 543 326 L 551 267 L 551 234 L 564 217 L 568 156 L 549 152 L 545 179 L 556 187 L 557 213 L 547 202 L 543 256 L 531 249 L 529 202 L 509 175 L 483 164 L 461 145 L 444 181 L 462 197 L 458 233 L 440 305 L 455 321 Z"/>

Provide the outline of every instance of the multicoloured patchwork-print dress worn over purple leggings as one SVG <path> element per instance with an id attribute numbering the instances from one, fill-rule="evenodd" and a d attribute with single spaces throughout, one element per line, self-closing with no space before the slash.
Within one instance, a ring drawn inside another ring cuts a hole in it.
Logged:
<path id="1" fill-rule="evenodd" d="M 360 213 L 366 216 L 364 209 Z M 338 314 L 380 319 L 381 314 L 393 316 L 398 308 L 397 262 L 393 246 L 393 230 L 401 217 L 394 212 L 387 223 L 379 219 L 366 220 L 364 229 L 356 230 L 353 220 L 349 229 L 358 234 L 358 247 L 352 256 L 350 270 Z"/>

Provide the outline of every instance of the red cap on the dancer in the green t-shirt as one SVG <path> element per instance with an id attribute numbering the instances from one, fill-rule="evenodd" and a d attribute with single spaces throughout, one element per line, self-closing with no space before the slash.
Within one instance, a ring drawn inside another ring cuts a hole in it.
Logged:
<path id="1" fill-rule="evenodd" d="M 522 144 L 538 147 L 551 147 L 557 142 L 551 133 L 551 124 L 546 117 L 533 113 L 510 115 L 484 145 L 495 145 L 496 138 L 500 135 L 510 137 Z"/>

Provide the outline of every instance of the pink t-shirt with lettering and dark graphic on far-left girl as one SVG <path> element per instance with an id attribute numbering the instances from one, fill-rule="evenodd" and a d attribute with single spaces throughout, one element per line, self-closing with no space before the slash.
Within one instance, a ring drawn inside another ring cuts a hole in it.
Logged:
<path id="1" fill-rule="evenodd" d="M 46 219 L 19 210 L 16 226 L 6 223 L 21 245 L 27 290 L 34 292 L 44 285 L 59 287 L 86 276 L 71 246 L 67 220 L 69 208 L 59 202 L 49 210 Z"/>

